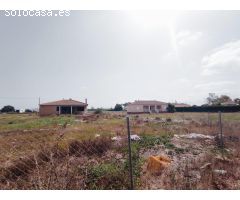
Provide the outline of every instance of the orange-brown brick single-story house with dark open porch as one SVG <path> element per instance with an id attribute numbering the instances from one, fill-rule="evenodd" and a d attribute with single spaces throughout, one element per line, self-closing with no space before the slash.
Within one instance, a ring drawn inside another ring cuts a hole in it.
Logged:
<path id="1" fill-rule="evenodd" d="M 39 115 L 78 115 L 85 113 L 87 111 L 87 106 L 87 99 L 85 100 L 85 103 L 72 99 L 63 99 L 59 101 L 40 104 Z"/>

